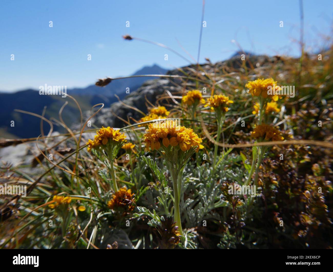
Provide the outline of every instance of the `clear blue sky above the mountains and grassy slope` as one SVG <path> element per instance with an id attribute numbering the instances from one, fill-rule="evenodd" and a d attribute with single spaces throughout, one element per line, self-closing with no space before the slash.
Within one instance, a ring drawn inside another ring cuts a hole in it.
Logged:
<path id="1" fill-rule="evenodd" d="M 306 46 L 317 52 L 323 45 L 321 35 L 331 31 L 333 1 L 304 0 L 303 7 Z M 183 47 L 196 59 L 201 8 L 202 0 L 1 0 L 0 90 L 44 84 L 85 87 L 101 77 L 132 74 L 144 65 L 187 65 L 164 48 L 125 41 L 122 35 L 165 44 L 189 58 Z M 232 40 L 255 53 L 299 54 L 297 0 L 206 0 L 204 21 L 200 62 L 205 57 L 212 62 L 229 58 L 239 49 Z"/>

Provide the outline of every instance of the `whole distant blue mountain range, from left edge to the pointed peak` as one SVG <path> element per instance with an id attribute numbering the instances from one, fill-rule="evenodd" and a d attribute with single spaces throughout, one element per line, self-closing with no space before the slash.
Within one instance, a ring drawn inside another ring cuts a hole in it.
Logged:
<path id="1" fill-rule="evenodd" d="M 166 69 L 158 65 L 145 66 L 136 71 L 138 74 L 165 74 Z M 118 79 L 111 82 L 107 87 L 101 88 L 90 85 L 82 89 L 68 89 L 67 93 L 72 95 L 79 103 L 83 112 L 90 112 L 93 105 L 104 103 L 105 107 L 117 100 L 114 94 L 118 94 L 123 99 L 126 94 L 126 88 L 130 88 L 130 92 L 137 90 L 146 80 L 151 77 L 137 77 L 128 79 Z M 45 117 L 51 117 L 59 120 L 59 110 L 65 102 L 68 105 L 62 112 L 62 118 L 66 125 L 73 127 L 80 122 L 80 112 L 75 102 L 67 97 L 62 98 L 61 95 L 39 95 L 37 90 L 23 90 L 16 93 L 0 93 L 0 137 L 17 137 L 29 138 L 37 137 L 40 132 L 40 118 L 15 112 L 14 109 L 24 110 L 41 115 L 44 106 L 47 107 Z M 14 121 L 14 127 L 11 127 L 11 121 Z M 44 122 L 44 133 L 49 132 L 50 126 Z M 64 128 L 54 122 L 54 131 L 65 132 Z"/>

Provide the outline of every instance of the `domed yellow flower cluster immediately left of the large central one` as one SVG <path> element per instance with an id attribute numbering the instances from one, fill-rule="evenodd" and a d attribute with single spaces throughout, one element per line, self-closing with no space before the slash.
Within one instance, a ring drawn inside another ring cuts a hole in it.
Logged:
<path id="1" fill-rule="evenodd" d="M 120 133 L 119 130 L 114 130 L 113 128 L 102 127 L 100 130 L 97 131 L 94 140 L 89 139 L 88 144 L 88 151 L 92 148 L 96 148 L 100 145 L 105 145 L 108 143 L 109 140 L 115 142 L 126 142 L 126 136 L 123 133 Z"/>

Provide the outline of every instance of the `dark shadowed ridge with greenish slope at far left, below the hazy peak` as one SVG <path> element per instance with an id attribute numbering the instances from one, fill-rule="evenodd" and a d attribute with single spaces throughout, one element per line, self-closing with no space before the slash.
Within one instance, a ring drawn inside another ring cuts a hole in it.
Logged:
<path id="1" fill-rule="evenodd" d="M 76 97 L 82 110 L 88 110 L 91 107 L 92 96 Z M 12 94 L 0 94 L 0 136 L 6 137 L 8 135 L 29 138 L 36 137 L 41 134 L 40 132 L 40 118 L 19 113 L 14 109 L 32 112 L 42 115 L 44 106 L 47 107 L 45 117 L 51 117 L 59 120 L 59 110 L 65 102 L 68 105 L 64 108 L 62 118 L 67 125 L 72 125 L 74 122 L 79 121 L 80 112 L 75 102 L 69 97 L 62 98 L 56 95 L 39 95 L 38 91 L 26 90 Z M 14 127 L 11 126 L 11 121 L 14 121 Z M 44 122 L 44 133 L 47 134 L 50 130 L 50 125 Z M 54 130 L 64 131 L 62 127 L 58 127 L 54 123 Z"/>

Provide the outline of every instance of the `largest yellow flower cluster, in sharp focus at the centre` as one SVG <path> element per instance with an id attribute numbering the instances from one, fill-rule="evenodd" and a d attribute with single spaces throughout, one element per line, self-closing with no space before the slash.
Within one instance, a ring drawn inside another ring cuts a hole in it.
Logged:
<path id="1" fill-rule="evenodd" d="M 199 148 L 203 148 L 200 144 L 202 138 L 199 138 L 192 129 L 177 126 L 172 120 L 167 120 L 162 124 L 150 123 L 147 133 L 144 135 L 144 141 L 146 142 L 146 148 L 160 149 L 161 144 L 165 147 L 177 146 L 185 152 L 193 146 L 197 146 L 196 151 Z"/>

